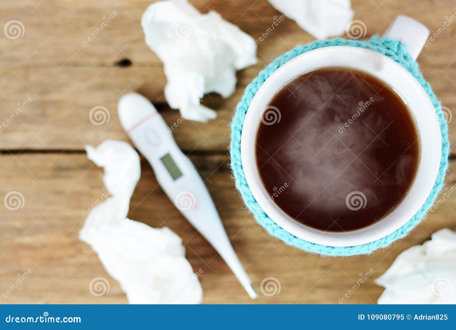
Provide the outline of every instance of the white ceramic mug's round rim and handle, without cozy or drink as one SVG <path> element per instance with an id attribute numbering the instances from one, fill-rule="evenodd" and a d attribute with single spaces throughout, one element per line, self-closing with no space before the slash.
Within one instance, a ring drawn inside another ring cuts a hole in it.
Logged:
<path id="1" fill-rule="evenodd" d="M 429 30 L 418 21 L 398 16 L 386 37 L 399 39 L 415 59 Z M 367 227 L 347 232 L 329 232 L 303 225 L 271 200 L 260 179 L 255 157 L 256 133 L 265 108 L 274 95 L 293 79 L 325 67 L 345 67 L 369 73 L 390 86 L 404 100 L 415 119 L 420 136 L 420 163 L 412 187 L 391 212 Z M 434 116 L 434 117 L 433 117 Z M 292 58 L 267 78 L 255 94 L 245 116 L 241 135 L 241 158 L 245 177 L 256 201 L 277 225 L 303 240 L 325 246 L 355 246 L 383 238 L 399 229 L 429 196 L 440 167 L 441 133 L 434 106 L 420 83 L 393 59 L 368 49 L 350 46 L 321 47 Z"/>

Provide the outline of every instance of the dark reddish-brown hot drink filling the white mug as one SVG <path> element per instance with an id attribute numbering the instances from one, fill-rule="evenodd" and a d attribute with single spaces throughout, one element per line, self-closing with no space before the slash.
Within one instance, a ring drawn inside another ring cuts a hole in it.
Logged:
<path id="1" fill-rule="evenodd" d="M 264 111 L 256 142 L 271 200 L 328 231 L 380 221 L 404 199 L 420 162 L 415 121 L 399 95 L 345 68 L 287 84 Z"/>

